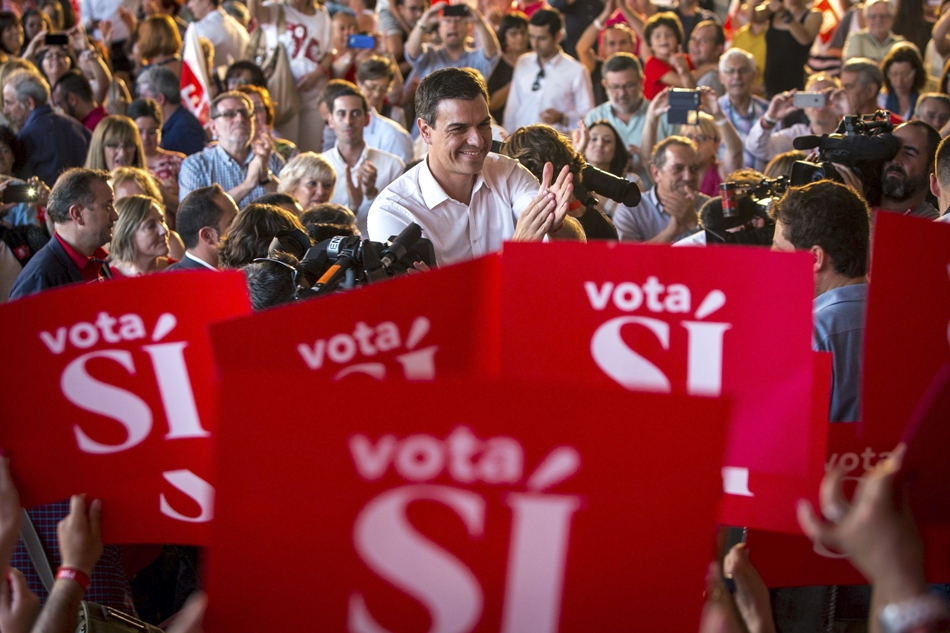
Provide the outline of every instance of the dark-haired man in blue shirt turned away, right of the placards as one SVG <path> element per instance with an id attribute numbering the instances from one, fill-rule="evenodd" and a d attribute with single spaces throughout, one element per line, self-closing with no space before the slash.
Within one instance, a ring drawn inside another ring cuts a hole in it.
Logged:
<path id="1" fill-rule="evenodd" d="M 808 251 L 814 258 L 814 338 L 833 355 L 832 422 L 861 419 L 861 359 L 870 241 L 867 203 L 830 180 L 791 187 L 770 210 L 772 250 Z"/>

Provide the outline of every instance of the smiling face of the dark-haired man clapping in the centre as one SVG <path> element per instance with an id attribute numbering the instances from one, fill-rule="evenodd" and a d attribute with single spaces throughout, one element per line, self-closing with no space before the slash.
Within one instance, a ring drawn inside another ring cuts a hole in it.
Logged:
<path id="1" fill-rule="evenodd" d="M 420 119 L 419 132 L 429 146 L 429 168 L 436 177 L 475 176 L 491 148 L 488 102 L 445 99 L 435 111 L 435 125 Z"/>

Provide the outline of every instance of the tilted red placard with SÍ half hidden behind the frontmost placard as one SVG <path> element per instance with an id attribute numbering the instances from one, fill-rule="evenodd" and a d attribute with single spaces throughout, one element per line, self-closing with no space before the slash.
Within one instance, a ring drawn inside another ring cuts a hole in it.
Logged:
<path id="1" fill-rule="evenodd" d="M 220 323 L 215 360 L 325 381 L 494 375 L 499 271 L 485 257 Z"/>

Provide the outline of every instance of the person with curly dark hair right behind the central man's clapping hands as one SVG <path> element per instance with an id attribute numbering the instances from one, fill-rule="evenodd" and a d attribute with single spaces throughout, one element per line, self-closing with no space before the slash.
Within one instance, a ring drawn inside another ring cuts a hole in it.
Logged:
<path id="1" fill-rule="evenodd" d="M 579 184 L 583 184 L 582 172 L 587 165 L 584 156 L 571 146 L 566 136 L 549 125 L 536 123 L 518 128 L 501 146 L 501 153 L 516 159 L 528 168 L 534 177 L 541 179 L 544 164 L 554 165 L 554 171 L 560 171 L 567 165 L 573 176 L 575 194 L 579 194 Z M 588 239 L 616 240 L 617 229 L 603 211 L 597 208 L 593 195 L 587 200 L 572 197 L 568 215 L 576 218 L 584 229 Z"/>

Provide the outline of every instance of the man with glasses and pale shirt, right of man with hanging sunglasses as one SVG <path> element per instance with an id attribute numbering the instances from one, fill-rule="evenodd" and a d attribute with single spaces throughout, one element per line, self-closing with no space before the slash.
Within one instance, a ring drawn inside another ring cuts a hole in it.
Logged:
<path id="1" fill-rule="evenodd" d="M 644 179 L 649 174 L 646 169 L 638 168 L 640 157 L 640 138 L 647 118 L 650 102 L 643 98 L 643 68 L 640 60 L 630 53 L 615 53 L 604 62 L 604 78 L 601 85 L 607 91 L 607 103 L 602 103 L 587 113 L 584 122 L 588 127 L 595 121 L 610 123 L 633 157 L 637 174 Z M 657 138 L 664 139 L 673 134 L 673 127 L 665 116 L 657 123 Z"/>

